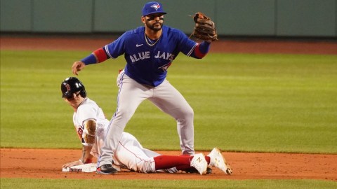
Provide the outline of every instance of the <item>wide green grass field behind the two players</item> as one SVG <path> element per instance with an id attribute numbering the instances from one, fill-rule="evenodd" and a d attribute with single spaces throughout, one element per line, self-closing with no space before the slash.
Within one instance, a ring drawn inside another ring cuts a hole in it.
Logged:
<path id="1" fill-rule="evenodd" d="M 80 148 L 60 83 L 83 51 L 1 51 L 1 147 Z M 79 72 L 111 118 L 124 59 Z M 180 55 L 168 80 L 194 109 L 195 148 L 337 153 L 337 56 Z M 126 127 L 146 148 L 179 150 L 176 123 L 143 102 Z M 67 140 L 65 140 L 67 139 Z"/>

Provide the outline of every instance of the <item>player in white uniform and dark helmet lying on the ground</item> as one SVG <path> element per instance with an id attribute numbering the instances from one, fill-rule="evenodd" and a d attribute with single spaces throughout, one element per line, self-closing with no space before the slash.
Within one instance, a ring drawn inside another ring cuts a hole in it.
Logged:
<path id="1" fill-rule="evenodd" d="M 93 157 L 98 158 L 100 147 L 107 133 L 109 120 L 104 116 L 102 109 L 91 99 L 86 97 L 86 89 L 78 78 L 66 78 L 61 83 L 62 97 L 74 109 L 73 123 L 82 143 L 82 156 L 79 160 L 68 162 L 63 168 L 91 163 Z M 230 167 L 217 148 L 209 155 L 201 153 L 195 155 L 160 155 L 150 151 L 139 143 L 132 134 L 122 132 L 118 145 L 114 151 L 114 165 L 125 167 L 134 172 L 152 173 L 178 170 L 197 169 L 204 174 L 207 165 L 218 167 L 226 174 L 231 174 Z"/>

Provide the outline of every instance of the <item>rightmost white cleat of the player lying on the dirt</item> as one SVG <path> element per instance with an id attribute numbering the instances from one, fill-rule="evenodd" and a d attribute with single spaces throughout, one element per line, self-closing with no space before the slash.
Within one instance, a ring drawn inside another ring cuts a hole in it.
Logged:
<path id="1" fill-rule="evenodd" d="M 209 165 L 213 167 L 217 167 L 221 169 L 226 174 L 232 174 L 232 169 L 230 168 L 230 165 L 227 164 L 225 158 L 223 158 L 223 155 L 221 154 L 220 150 L 218 148 L 213 148 L 211 153 L 209 153 L 209 158 L 211 159 L 211 162 Z"/>

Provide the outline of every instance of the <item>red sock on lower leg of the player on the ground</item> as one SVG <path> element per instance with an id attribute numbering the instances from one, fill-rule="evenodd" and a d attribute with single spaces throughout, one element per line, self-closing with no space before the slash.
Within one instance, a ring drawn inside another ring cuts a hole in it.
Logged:
<path id="1" fill-rule="evenodd" d="M 159 169 L 170 169 L 172 167 L 180 167 L 180 166 L 188 166 L 190 167 L 190 160 L 192 160 L 193 156 L 184 155 L 184 156 L 176 156 L 176 155 L 159 155 L 154 157 L 154 162 L 156 164 L 156 170 Z"/>

